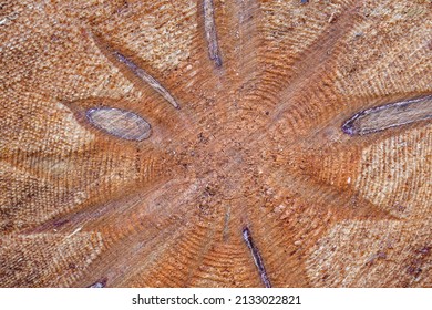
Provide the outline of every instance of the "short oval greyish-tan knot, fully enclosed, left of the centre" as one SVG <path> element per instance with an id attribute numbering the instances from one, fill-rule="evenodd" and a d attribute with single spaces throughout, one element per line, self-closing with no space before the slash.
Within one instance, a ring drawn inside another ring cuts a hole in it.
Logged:
<path id="1" fill-rule="evenodd" d="M 151 135 L 151 125 L 140 115 L 115 107 L 92 107 L 85 113 L 89 122 L 105 133 L 130 141 L 143 141 Z"/>

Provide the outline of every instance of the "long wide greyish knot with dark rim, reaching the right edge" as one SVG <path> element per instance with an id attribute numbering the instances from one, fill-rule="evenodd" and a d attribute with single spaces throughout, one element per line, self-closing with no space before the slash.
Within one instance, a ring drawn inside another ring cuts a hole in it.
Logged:
<path id="1" fill-rule="evenodd" d="M 364 135 L 429 118 L 432 118 L 432 95 L 364 110 L 349 118 L 342 131 Z"/>

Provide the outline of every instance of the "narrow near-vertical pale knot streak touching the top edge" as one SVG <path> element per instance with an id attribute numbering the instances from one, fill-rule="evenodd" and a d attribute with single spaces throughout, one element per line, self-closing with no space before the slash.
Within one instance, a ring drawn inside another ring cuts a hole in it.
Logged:
<path id="1" fill-rule="evenodd" d="M 208 56 L 215 62 L 216 66 L 222 66 L 213 0 L 204 0 L 204 30 L 207 39 Z"/>

